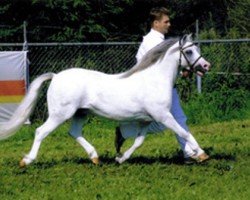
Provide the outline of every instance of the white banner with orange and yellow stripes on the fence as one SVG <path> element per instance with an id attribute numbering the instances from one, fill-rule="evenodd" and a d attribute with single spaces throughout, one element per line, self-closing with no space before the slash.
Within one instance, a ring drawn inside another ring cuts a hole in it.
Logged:
<path id="1" fill-rule="evenodd" d="M 0 123 L 13 115 L 26 93 L 27 51 L 0 52 Z"/>

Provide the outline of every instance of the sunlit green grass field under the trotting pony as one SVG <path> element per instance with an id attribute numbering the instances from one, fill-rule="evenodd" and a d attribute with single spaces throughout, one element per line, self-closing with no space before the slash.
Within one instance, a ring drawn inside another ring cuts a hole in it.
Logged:
<path id="1" fill-rule="evenodd" d="M 94 166 L 67 134 L 68 124 L 43 142 L 37 161 L 18 162 L 33 142 L 36 125 L 0 141 L 0 199 L 250 199 L 250 120 L 191 126 L 211 160 L 184 165 L 171 132 L 148 135 L 122 165 L 114 161 L 115 123 L 94 120 L 85 136 L 102 164 Z M 132 140 L 125 143 L 125 148 Z M 125 149 L 123 148 L 123 150 Z"/>

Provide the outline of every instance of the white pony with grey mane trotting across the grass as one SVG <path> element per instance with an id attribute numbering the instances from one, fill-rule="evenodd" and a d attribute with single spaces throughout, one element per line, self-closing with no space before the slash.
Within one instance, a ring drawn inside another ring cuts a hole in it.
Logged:
<path id="1" fill-rule="evenodd" d="M 172 89 L 180 66 L 200 75 L 209 70 L 210 63 L 201 57 L 191 36 L 162 42 L 140 63 L 122 74 L 108 75 L 80 68 L 43 74 L 31 83 L 10 121 L 0 126 L 0 139 L 13 135 L 20 128 L 35 106 L 42 83 L 52 79 L 47 92 L 49 117 L 36 129 L 32 148 L 20 161 L 21 167 L 34 161 L 43 139 L 71 117 L 70 135 L 86 150 L 92 162 L 98 164 L 95 148 L 82 136 L 88 112 L 120 121 L 160 122 L 183 137 L 195 151 L 198 144 L 170 113 Z M 78 110 L 83 110 L 84 114 L 78 115 Z M 134 144 L 122 156 L 116 157 L 116 161 L 122 163 L 127 160 L 144 138 L 145 133 L 138 135 Z"/>

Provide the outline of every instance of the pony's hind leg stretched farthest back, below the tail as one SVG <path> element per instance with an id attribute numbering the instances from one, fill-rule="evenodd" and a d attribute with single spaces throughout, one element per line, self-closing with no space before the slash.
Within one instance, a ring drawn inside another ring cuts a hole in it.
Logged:
<path id="1" fill-rule="evenodd" d="M 63 122 L 63 121 L 62 121 Z M 39 147 L 43 141 L 43 139 L 49 135 L 58 125 L 62 122 L 58 122 L 58 120 L 54 120 L 49 117 L 46 122 L 36 129 L 35 139 L 32 145 L 30 152 L 24 156 L 24 158 L 20 161 L 20 167 L 25 167 L 29 165 L 32 161 L 34 161 L 37 157 Z"/>

